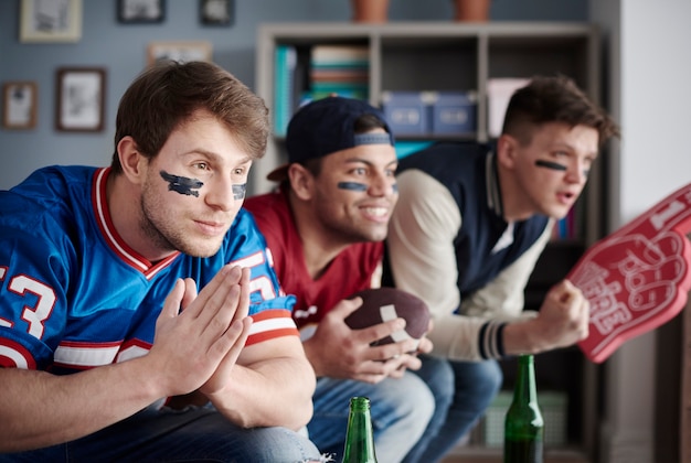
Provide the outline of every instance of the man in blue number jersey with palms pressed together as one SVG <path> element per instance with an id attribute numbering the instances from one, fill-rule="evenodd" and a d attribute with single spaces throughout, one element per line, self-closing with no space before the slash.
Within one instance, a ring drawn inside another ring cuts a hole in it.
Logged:
<path id="1" fill-rule="evenodd" d="M 267 110 L 209 63 L 127 89 L 110 168 L 0 192 L 0 461 L 319 461 L 306 359 L 241 209 Z"/>

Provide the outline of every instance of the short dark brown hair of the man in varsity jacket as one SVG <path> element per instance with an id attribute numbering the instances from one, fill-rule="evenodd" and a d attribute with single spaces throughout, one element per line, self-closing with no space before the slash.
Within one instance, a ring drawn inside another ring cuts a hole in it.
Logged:
<path id="1" fill-rule="evenodd" d="M 592 127 L 597 130 L 600 144 L 619 137 L 619 128 L 607 112 L 565 76 L 536 76 L 515 90 L 509 100 L 502 133 L 527 144 L 532 134 L 530 126 L 548 122 Z"/>

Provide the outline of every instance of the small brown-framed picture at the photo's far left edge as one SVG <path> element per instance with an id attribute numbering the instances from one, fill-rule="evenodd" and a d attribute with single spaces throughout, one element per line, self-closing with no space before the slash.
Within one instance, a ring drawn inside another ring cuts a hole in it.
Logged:
<path id="1" fill-rule="evenodd" d="M 35 82 L 7 82 L 2 86 L 2 127 L 33 129 L 36 127 L 39 89 Z"/>

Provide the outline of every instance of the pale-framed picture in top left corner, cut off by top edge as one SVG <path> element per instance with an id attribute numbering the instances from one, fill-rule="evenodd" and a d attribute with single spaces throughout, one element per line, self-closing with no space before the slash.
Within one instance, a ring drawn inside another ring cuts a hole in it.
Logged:
<path id="1" fill-rule="evenodd" d="M 82 0 L 21 0 L 20 42 L 78 42 Z"/>

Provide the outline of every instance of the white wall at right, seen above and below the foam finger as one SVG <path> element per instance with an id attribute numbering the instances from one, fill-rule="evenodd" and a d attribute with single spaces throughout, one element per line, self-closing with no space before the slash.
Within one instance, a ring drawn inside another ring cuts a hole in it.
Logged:
<path id="1" fill-rule="evenodd" d="M 616 228 L 691 183 L 691 1 L 591 0 L 609 36 L 609 107 L 620 121 L 610 183 Z M 603 463 L 653 462 L 655 332 L 606 365 Z"/>

